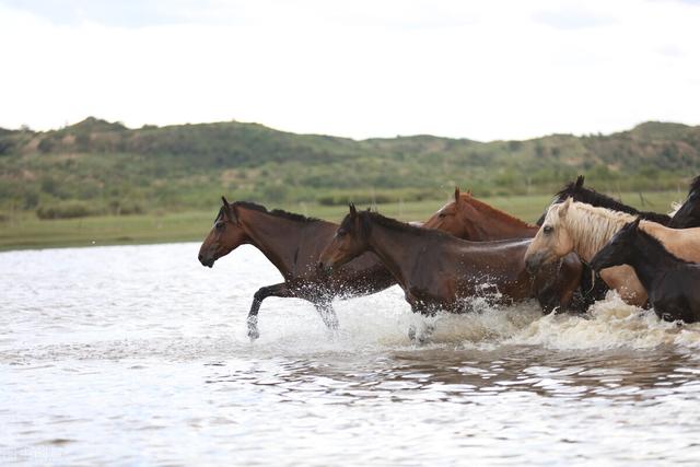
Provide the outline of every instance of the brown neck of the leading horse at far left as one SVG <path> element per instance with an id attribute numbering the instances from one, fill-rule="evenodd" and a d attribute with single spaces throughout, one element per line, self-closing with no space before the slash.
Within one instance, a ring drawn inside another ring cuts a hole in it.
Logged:
<path id="1" fill-rule="evenodd" d="M 238 207 L 238 219 L 250 244 L 275 265 L 284 279 L 294 271 L 294 252 L 302 240 L 305 224 L 291 219 Z"/>

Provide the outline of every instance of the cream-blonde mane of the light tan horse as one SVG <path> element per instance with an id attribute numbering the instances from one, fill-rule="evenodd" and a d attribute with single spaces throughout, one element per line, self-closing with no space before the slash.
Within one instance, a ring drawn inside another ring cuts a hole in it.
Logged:
<path id="1" fill-rule="evenodd" d="M 574 250 L 585 260 L 593 258 L 625 224 L 637 219 L 627 212 L 597 208 L 584 202 L 570 202 L 565 214 L 560 217 L 559 211 L 565 209 L 565 206 L 567 202 L 552 205 L 542 225 L 567 229 Z"/>

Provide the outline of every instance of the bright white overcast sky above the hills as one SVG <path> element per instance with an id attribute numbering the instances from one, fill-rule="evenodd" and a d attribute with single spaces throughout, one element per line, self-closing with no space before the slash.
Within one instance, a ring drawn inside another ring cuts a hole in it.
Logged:
<path id="1" fill-rule="evenodd" d="M 700 124 L 700 1 L 0 0 L 0 127 L 477 140 Z"/>

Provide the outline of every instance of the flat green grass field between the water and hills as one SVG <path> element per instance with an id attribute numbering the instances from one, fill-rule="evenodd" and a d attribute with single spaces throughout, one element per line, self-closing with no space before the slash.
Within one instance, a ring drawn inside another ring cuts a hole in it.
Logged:
<path id="1" fill-rule="evenodd" d="M 658 191 L 643 195 L 622 194 L 622 201 L 644 210 L 667 212 L 673 201 L 684 194 Z M 481 198 L 513 215 L 535 221 L 550 201 L 549 196 L 514 196 Z M 442 200 L 378 205 L 385 215 L 406 221 L 425 220 L 447 201 Z M 317 205 L 283 206 L 283 209 L 340 221 L 347 208 Z M 219 206 L 209 211 L 174 212 L 162 215 L 96 217 L 69 220 L 40 221 L 30 213 L 20 214 L 0 223 L 0 249 L 48 248 L 61 246 L 120 245 L 201 241 L 211 227 Z"/>

